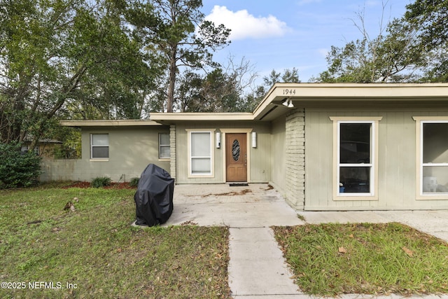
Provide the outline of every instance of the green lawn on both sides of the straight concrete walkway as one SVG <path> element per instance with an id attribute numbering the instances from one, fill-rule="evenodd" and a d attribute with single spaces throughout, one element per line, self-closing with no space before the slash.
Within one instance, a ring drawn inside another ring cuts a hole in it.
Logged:
<path id="1" fill-rule="evenodd" d="M 228 228 L 132 227 L 134 193 L 0 190 L 0 298 L 230 298 Z M 405 225 L 274 232 L 306 293 L 448 293 L 447 243 Z"/>

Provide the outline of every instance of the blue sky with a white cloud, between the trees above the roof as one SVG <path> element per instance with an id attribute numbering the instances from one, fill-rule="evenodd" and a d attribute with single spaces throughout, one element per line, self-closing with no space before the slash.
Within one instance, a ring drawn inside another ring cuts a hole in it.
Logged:
<path id="1" fill-rule="evenodd" d="M 227 64 L 228 57 L 253 64 L 260 78 L 272 69 L 298 69 L 307 82 L 327 69 L 325 56 L 331 46 L 342 47 L 360 39 L 353 24 L 361 25 L 364 15 L 370 37 L 405 13 L 411 0 L 203 0 L 202 12 L 216 24 L 232 29 L 230 46 L 214 54 L 214 60 Z M 384 14 L 383 12 L 384 7 Z"/>

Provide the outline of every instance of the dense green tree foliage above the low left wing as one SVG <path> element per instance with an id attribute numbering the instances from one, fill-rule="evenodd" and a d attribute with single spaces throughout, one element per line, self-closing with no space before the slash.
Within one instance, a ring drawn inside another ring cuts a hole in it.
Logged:
<path id="1" fill-rule="evenodd" d="M 52 120 L 139 118 L 160 69 L 110 0 L 0 0 L 0 139 Z M 155 66 L 155 67 L 154 67 Z"/>

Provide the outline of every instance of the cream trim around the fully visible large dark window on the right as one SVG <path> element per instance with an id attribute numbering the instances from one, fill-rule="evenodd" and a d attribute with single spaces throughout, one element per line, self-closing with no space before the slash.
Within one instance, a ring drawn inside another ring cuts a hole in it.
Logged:
<path id="1" fill-rule="evenodd" d="M 341 200 L 378 200 L 378 127 L 382 116 L 351 117 L 330 116 L 333 122 L 333 175 L 332 175 L 332 197 L 335 201 Z M 341 123 L 370 123 L 372 125 L 371 139 L 371 161 L 370 165 L 370 193 L 339 193 L 339 124 Z"/>

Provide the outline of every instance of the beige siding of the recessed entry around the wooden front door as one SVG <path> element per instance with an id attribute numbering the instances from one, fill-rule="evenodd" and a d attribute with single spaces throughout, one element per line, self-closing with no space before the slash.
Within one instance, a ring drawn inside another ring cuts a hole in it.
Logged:
<path id="1" fill-rule="evenodd" d="M 209 177 L 188 175 L 188 132 L 210 130 L 213 132 L 213 174 Z M 271 139 L 269 123 L 261 122 L 179 122 L 176 123 L 176 183 L 225 183 L 225 132 L 246 132 L 248 134 L 248 181 L 267 182 L 271 176 L 270 160 Z M 221 147 L 216 148 L 216 133 L 221 134 Z M 257 147 L 252 147 L 251 132 L 257 134 Z"/>

